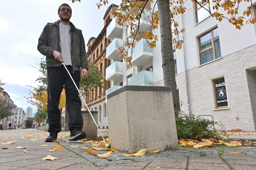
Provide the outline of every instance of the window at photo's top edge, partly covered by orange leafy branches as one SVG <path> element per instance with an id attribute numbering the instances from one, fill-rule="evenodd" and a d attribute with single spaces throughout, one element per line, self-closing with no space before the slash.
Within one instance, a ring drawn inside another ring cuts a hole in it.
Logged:
<path id="1" fill-rule="evenodd" d="M 195 2 L 195 17 L 197 23 L 201 22 L 202 20 L 206 19 L 211 13 L 214 13 L 216 10 L 212 9 L 212 4 L 205 2 L 202 4 L 202 7 Z M 211 13 L 209 12 L 211 11 Z"/>

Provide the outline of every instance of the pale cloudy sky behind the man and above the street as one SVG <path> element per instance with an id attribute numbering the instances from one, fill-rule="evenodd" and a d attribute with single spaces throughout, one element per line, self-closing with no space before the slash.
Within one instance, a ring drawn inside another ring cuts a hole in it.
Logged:
<path id="1" fill-rule="evenodd" d="M 104 26 L 104 14 L 114 3 L 120 0 L 108 0 L 106 6 L 98 9 L 99 0 L 15 0 L 1 1 L 0 10 L 0 80 L 2 86 L 17 107 L 26 112 L 28 106 L 37 108 L 27 102 L 28 86 L 36 87 L 35 80 L 40 76 L 39 64 L 44 56 L 37 51 L 38 38 L 47 23 L 59 19 L 58 7 L 68 3 L 72 9 L 70 21 L 81 29 L 85 45 L 90 37 L 97 37 Z M 44 58 L 45 59 L 45 58 Z"/>

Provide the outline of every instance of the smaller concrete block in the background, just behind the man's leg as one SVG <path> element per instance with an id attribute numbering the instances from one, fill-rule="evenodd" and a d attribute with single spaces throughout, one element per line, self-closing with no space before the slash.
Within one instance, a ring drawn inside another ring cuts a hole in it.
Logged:
<path id="1" fill-rule="evenodd" d="M 96 138 L 97 137 L 97 127 L 90 116 L 89 111 L 81 111 L 83 116 L 83 131 L 86 132 L 86 138 Z M 98 112 L 97 111 L 90 111 L 94 120 L 97 123 L 98 120 Z"/>

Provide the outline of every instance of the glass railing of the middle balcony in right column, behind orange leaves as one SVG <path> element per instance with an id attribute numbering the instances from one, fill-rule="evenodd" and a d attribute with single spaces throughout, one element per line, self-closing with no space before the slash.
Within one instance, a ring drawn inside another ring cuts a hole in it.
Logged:
<path id="1" fill-rule="evenodd" d="M 131 51 L 132 51 L 132 49 L 129 49 L 127 55 L 131 56 L 131 54 L 132 54 L 133 58 L 135 58 L 142 51 L 147 51 L 147 52 L 153 53 L 153 48 L 151 48 L 150 46 L 147 46 L 147 40 L 141 39 L 136 43 L 136 45 L 134 47 L 134 51 L 132 53 L 131 53 Z"/>

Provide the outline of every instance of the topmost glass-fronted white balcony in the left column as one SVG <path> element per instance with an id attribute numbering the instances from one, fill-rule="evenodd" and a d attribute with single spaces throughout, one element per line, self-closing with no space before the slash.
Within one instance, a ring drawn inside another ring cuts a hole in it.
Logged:
<path id="1" fill-rule="evenodd" d="M 118 25 L 115 21 L 115 18 L 113 18 L 107 27 L 107 39 L 113 40 L 114 38 L 122 38 L 122 31 L 123 26 Z"/>

